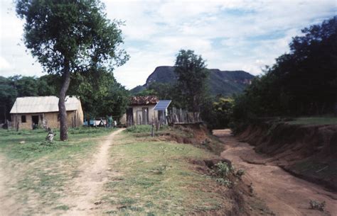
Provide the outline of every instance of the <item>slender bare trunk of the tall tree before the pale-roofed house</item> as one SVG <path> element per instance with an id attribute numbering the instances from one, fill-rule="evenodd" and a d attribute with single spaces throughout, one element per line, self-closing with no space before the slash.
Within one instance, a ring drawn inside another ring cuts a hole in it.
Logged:
<path id="1" fill-rule="evenodd" d="M 60 96 L 58 101 L 58 112 L 60 114 L 60 140 L 68 140 L 68 123 L 67 123 L 67 110 L 65 109 L 65 93 L 68 91 L 70 84 L 70 69 L 69 62 L 65 62 L 63 71 L 63 83 L 60 89 Z"/>

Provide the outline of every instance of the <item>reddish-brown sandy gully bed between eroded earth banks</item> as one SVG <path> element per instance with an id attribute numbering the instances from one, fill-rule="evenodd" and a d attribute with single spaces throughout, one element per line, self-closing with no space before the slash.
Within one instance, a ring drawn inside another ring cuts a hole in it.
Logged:
<path id="1" fill-rule="evenodd" d="M 230 130 L 214 130 L 225 143 L 222 157 L 230 159 L 238 169 L 245 169 L 243 180 L 252 183 L 254 192 L 276 215 L 337 215 L 337 194 L 321 186 L 291 176 L 279 166 L 264 164 L 266 157 L 257 154 L 250 144 L 238 142 Z M 310 200 L 326 202 L 326 211 L 311 210 Z"/>

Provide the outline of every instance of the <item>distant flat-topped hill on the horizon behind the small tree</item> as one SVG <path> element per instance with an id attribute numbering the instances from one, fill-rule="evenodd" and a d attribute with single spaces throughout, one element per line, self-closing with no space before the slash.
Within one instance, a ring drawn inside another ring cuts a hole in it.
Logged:
<path id="1" fill-rule="evenodd" d="M 223 96 L 231 96 L 233 93 L 242 92 L 245 87 L 250 84 L 255 77 L 244 71 L 220 71 L 220 69 L 209 69 L 210 76 L 208 78 L 208 86 L 213 95 L 222 94 Z M 136 86 L 131 90 L 133 94 L 138 93 L 152 82 L 171 83 L 176 82 L 176 74 L 174 67 L 160 66 L 154 69 L 154 72 L 146 79 L 144 86 Z"/>

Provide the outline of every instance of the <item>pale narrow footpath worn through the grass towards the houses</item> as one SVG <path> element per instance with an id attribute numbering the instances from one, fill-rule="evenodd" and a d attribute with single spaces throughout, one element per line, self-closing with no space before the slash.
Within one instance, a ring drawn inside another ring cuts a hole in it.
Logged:
<path id="1" fill-rule="evenodd" d="M 64 205 L 68 205 L 70 210 L 63 215 L 95 215 L 94 210 L 97 205 L 96 195 L 102 191 L 103 184 L 107 181 L 107 176 L 111 175 L 108 166 L 109 147 L 115 135 L 122 132 L 123 129 L 112 132 L 106 137 L 100 146 L 100 149 L 92 157 L 92 161 L 88 161 L 80 166 L 80 176 L 74 178 L 68 188 L 68 197 L 61 200 Z M 95 204 L 96 203 L 96 204 Z"/>

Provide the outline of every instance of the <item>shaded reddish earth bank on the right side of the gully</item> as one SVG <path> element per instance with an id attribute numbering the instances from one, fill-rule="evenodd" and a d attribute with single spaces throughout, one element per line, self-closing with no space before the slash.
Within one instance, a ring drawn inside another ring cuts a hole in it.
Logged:
<path id="1" fill-rule="evenodd" d="M 337 191 L 337 125 L 259 123 L 237 138 L 267 154 L 264 163 Z"/>

